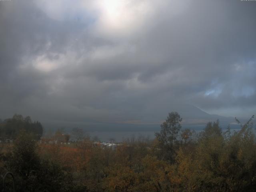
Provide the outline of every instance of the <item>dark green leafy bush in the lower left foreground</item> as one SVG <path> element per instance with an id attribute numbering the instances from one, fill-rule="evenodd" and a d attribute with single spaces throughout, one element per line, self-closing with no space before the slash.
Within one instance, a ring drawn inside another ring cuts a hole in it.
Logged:
<path id="1" fill-rule="evenodd" d="M 20 132 L 12 150 L 3 158 L 6 169 L 14 173 L 17 191 L 72 191 L 71 173 L 56 162 L 40 158 L 37 150 L 34 136 Z"/>

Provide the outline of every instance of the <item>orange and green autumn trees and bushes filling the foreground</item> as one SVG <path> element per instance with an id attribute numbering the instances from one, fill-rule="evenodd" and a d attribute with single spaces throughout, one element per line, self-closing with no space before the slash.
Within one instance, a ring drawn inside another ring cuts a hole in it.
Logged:
<path id="1" fill-rule="evenodd" d="M 19 192 L 255 192 L 253 118 L 236 119 L 239 131 L 223 132 L 217 120 L 197 133 L 172 112 L 154 140 L 128 139 L 115 150 L 89 137 L 70 146 L 39 143 L 22 131 L 0 164 Z"/>

